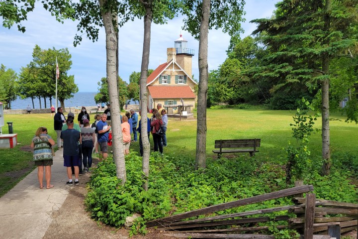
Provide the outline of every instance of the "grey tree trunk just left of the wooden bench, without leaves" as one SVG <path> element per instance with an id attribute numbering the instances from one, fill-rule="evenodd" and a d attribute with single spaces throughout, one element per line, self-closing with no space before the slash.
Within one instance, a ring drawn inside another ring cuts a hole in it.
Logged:
<path id="1" fill-rule="evenodd" d="M 206 168 L 206 99 L 208 89 L 208 32 L 210 0 L 202 1 L 199 35 L 199 90 L 196 124 L 195 169 Z"/>

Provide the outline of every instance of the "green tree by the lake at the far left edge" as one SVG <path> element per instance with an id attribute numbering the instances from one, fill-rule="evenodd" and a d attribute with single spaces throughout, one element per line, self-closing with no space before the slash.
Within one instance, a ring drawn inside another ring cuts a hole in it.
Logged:
<path id="1" fill-rule="evenodd" d="M 6 70 L 4 65 L 0 65 L 0 102 L 4 103 L 5 109 L 11 109 L 11 102 L 16 100 L 16 79 L 14 70 Z"/>

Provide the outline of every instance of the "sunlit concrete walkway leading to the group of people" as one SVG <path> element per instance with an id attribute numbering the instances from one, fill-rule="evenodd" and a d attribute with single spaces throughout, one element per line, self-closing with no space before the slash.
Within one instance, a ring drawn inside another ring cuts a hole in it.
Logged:
<path id="1" fill-rule="evenodd" d="M 0 239 L 43 238 L 53 212 L 61 208 L 71 189 L 66 185 L 62 152 L 56 151 L 51 168 L 54 188 L 46 189 L 45 173 L 44 189 L 39 188 L 36 168 L 0 198 Z"/>

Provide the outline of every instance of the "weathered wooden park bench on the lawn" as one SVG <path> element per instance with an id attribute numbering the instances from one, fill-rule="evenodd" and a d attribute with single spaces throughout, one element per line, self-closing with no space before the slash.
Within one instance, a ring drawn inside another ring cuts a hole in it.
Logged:
<path id="1" fill-rule="evenodd" d="M 220 139 L 215 140 L 215 148 L 213 152 L 218 154 L 218 157 L 221 157 L 222 153 L 250 153 L 250 156 L 253 156 L 255 152 L 260 147 L 261 139 Z M 229 148 L 229 149 L 224 149 Z"/>

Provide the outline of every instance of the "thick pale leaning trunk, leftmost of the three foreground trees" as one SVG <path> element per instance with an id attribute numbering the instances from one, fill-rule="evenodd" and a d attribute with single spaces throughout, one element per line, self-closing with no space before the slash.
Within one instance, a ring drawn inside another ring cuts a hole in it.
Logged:
<path id="1" fill-rule="evenodd" d="M 107 8 L 107 0 L 99 0 L 103 25 L 106 33 L 106 74 L 108 83 L 108 96 L 111 105 L 111 124 L 113 141 L 113 158 L 116 164 L 117 178 L 121 180 L 122 185 L 127 181 L 127 173 L 124 161 L 124 146 L 122 137 L 122 127 L 120 121 L 120 106 L 118 100 L 118 75 L 116 48 L 117 37 L 112 23 L 112 12 Z"/>

